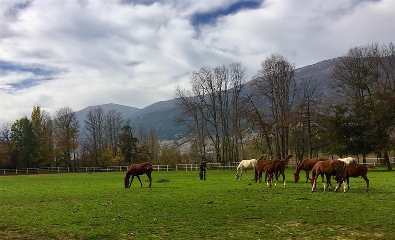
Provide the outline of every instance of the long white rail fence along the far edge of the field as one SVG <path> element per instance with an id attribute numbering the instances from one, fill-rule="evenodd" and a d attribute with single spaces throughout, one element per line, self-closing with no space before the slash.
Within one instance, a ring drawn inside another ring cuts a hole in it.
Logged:
<path id="1" fill-rule="evenodd" d="M 366 165 L 386 165 L 384 158 L 366 158 Z M 362 159 L 356 159 L 359 164 L 363 164 Z M 391 165 L 395 165 L 395 158 L 390 157 Z M 209 170 L 215 169 L 236 169 L 238 162 L 227 163 L 207 163 Z M 290 161 L 288 167 L 296 167 L 298 161 Z M 154 171 L 197 171 L 200 168 L 199 163 L 192 164 L 169 164 L 169 165 L 153 165 Z M 61 173 L 61 172 L 124 172 L 129 166 L 106 166 L 106 167 L 44 167 L 44 168 L 17 168 L 17 169 L 0 169 L 1 175 L 6 174 L 33 174 L 33 173 Z"/>

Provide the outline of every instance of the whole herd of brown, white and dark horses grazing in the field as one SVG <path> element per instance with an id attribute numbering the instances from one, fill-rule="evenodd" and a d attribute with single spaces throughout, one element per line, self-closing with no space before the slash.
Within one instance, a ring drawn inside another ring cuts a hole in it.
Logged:
<path id="1" fill-rule="evenodd" d="M 259 159 L 242 160 L 237 166 L 235 173 L 235 179 L 241 180 L 243 171 L 247 175 L 247 169 L 253 169 L 255 182 L 261 183 L 262 175 L 265 173 L 265 181 L 269 188 L 272 187 L 273 177 L 276 179 L 275 187 L 277 186 L 278 178 L 282 175 L 282 181 L 284 183 L 284 188 L 286 188 L 285 180 L 285 167 L 288 165 L 290 159 L 294 156 L 289 154 L 285 159 L 276 160 L 262 160 L 265 154 L 263 154 Z M 377 168 L 376 166 L 370 166 L 369 168 Z M 140 179 L 140 175 L 146 174 L 150 180 L 149 188 L 151 188 L 152 178 L 151 172 L 153 170 L 153 165 L 149 162 L 132 164 L 126 171 L 124 178 L 125 188 L 130 188 L 132 185 L 134 177 L 140 181 L 141 187 L 143 184 Z M 203 161 L 200 164 L 200 180 L 206 180 L 206 170 L 207 164 Z M 305 159 L 300 162 L 293 174 L 294 182 L 297 183 L 300 179 L 299 174 L 304 170 L 306 172 L 306 182 L 311 181 L 312 191 L 316 190 L 317 179 L 319 176 L 322 178 L 324 191 L 326 188 L 332 186 L 331 177 L 336 181 L 337 185 L 335 187 L 335 192 L 339 190 L 343 184 L 343 191 L 347 192 L 350 189 L 349 178 L 362 177 L 366 181 L 366 191 L 369 191 L 369 179 L 367 178 L 367 167 L 364 165 L 358 165 L 357 161 L 352 157 L 339 158 L 339 159 L 328 159 L 328 158 L 314 158 Z M 309 178 L 309 173 L 312 172 L 312 178 Z M 203 174 L 204 173 L 204 174 Z M 131 181 L 130 177 L 132 178 Z M 326 177 L 326 184 L 325 184 Z M 269 179 L 268 179 L 269 178 Z M 248 180 L 248 175 L 247 175 Z"/>

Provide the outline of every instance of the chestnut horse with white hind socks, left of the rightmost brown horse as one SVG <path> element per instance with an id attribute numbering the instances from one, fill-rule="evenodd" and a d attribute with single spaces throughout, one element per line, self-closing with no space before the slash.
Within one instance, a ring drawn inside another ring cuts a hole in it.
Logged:
<path id="1" fill-rule="evenodd" d="M 345 168 L 345 163 L 337 159 L 317 162 L 312 169 L 312 181 L 311 181 L 312 192 L 316 190 L 317 178 L 319 175 L 321 175 L 322 182 L 324 183 L 324 192 L 326 190 L 325 180 L 323 176 L 324 174 L 326 175 L 327 181 L 330 178 L 330 176 L 338 174 L 341 180 L 343 180 L 343 182 L 346 182 L 346 173 L 344 171 L 344 168 Z M 340 187 L 340 183 L 337 183 L 335 192 L 339 190 L 339 187 Z M 343 186 L 343 192 L 347 192 L 346 184 L 344 184 Z"/>

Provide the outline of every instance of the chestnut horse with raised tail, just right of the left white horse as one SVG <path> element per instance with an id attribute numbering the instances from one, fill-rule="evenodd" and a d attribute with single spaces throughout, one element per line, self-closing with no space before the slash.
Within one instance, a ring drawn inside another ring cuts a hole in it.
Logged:
<path id="1" fill-rule="evenodd" d="M 275 188 L 277 186 L 279 174 L 282 175 L 282 182 L 284 182 L 284 188 L 286 188 L 287 184 L 285 181 L 285 166 L 288 165 L 289 160 L 293 156 L 294 155 L 289 154 L 288 156 L 285 157 L 284 160 L 277 159 L 277 160 L 273 160 L 273 161 L 266 161 L 265 163 L 263 163 L 262 168 L 259 169 L 258 171 L 265 171 L 265 174 L 269 175 L 269 181 L 266 182 L 266 184 L 269 186 L 269 188 L 272 187 L 273 174 L 275 174 L 275 177 L 276 177 Z M 265 177 L 265 179 L 266 179 L 266 177 Z"/>

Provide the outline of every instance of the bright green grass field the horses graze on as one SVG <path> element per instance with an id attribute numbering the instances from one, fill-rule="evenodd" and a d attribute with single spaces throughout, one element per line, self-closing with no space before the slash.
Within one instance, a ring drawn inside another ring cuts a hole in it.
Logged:
<path id="1" fill-rule="evenodd" d="M 395 172 L 370 170 L 369 193 L 362 178 L 312 193 L 292 172 L 287 189 L 226 170 L 153 172 L 151 189 L 124 172 L 3 176 L 0 239 L 395 239 Z"/>

